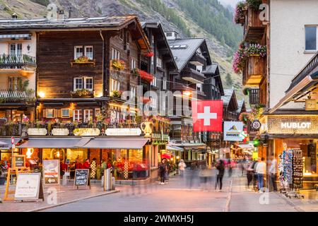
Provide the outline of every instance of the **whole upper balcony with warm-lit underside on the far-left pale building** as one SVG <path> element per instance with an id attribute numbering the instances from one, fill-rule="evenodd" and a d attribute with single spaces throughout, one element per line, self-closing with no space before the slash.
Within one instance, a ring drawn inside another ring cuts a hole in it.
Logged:
<path id="1" fill-rule="evenodd" d="M 27 76 L 28 73 L 34 73 L 37 67 L 35 57 L 28 55 L 0 55 L 0 73 L 8 71 L 18 72 L 22 76 Z"/>

